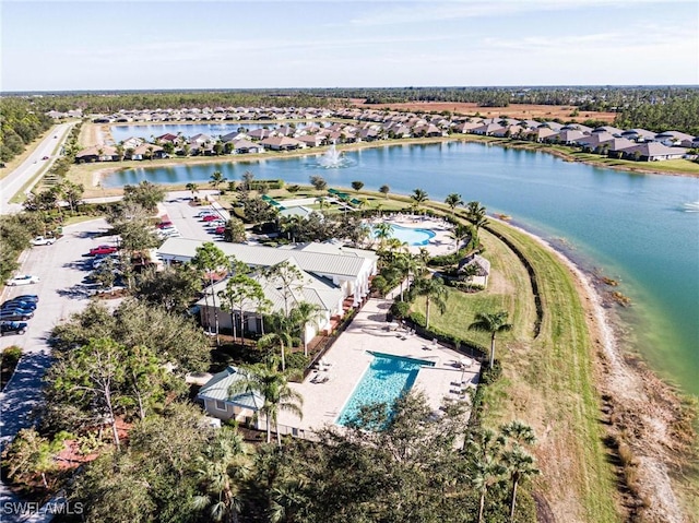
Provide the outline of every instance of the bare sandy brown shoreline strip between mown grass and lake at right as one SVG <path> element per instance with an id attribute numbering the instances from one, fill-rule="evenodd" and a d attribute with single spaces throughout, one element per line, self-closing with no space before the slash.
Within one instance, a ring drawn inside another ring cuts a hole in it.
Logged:
<path id="1" fill-rule="evenodd" d="M 653 518 L 649 521 L 666 523 L 690 521 L 685 518 L 680 497 L 676 492 L 677 486 L 672 479 L 677 460 L 691 444 L 683 441 L 675 431 L 682 418 L 682 392 L 661 380 L 642 360 L 640 365 L 629 360 L 630 355 L 625 354 L 618 343 L 613 321 L 603 306 L 604 298 L 591 274 L 540 236 L 506 221 L 495 219 L 554 253 L 571 273 L 593 341 L 590 348 L 596 353 L 592 355 L 592 362 L 597 393 L 603 402 L 603 415 L 608 407 L 612 409 L 609 418 L 614 415 L 621 418 L 616 424 L 600 423 L 609 426 L 606 430 L 608 435 L 619 430 L 618 426 L 629 430 L 627 442 L 638 460 L 639 498 L 650 500 L 644 515 Z M 673 452 L 679 455 L 673 459 Z"/>

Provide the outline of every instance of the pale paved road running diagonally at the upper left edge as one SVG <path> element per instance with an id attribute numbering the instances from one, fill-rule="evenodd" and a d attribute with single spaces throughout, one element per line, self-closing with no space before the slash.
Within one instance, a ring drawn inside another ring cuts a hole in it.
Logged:
<path id="1" fill-rule="evenodd" d="M 54 154 L 54 151 L 57 146 L 66 144 L 66 139 L 73 124 L 74 122 L 56 126 L 16 169 L 0 180 L 0 214 L 14 214 L 22 211 L 21 204 L 10 203 L 10 200 L 22 190 L 27 181 L 59 157 L 58 154 Z M 49 159 L 42 159 L 45 156 L 48 156 Z"/>

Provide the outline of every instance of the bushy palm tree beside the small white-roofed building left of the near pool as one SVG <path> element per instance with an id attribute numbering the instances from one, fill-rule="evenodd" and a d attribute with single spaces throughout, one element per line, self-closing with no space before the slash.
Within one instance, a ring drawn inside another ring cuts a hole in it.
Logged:
<path id="1" fill-rule="evenodd" d="M 239 369 L 242 379 L 228 388 L 228 395 L 253 393 L 262 396 L 260 413 L 266 420 L 266 442 L 272 442 L 272 424 L 276 427 L 279 413 L 286 411 L 296 414 L 299 419 L 304 413 L 301 395 L 288 387 L 291 371 L 279 371 L 273 361 Z M 282 447 L 282 436 L 276 427 L 276 442 Z"/>

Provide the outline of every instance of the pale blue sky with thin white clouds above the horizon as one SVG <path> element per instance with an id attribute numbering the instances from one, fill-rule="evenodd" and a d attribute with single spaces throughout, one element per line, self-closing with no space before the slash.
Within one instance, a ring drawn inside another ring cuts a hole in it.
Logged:
<path id="1" fill-rule="evenodd" d="M 2 91 L 699 84 L 696 0 L 1 0 Z"/>

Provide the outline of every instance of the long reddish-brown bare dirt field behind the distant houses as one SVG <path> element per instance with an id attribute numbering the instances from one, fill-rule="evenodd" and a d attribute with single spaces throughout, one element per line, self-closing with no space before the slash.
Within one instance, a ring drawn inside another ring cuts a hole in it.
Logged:
<path id="1" fill-rule="evenodd" d="M 553 120 L 554 118 L 560 118 L 561 120 L 602 120 L 606 122 L 614 121 L 616 117 L 615 112 L 596 112 L 596 111 L 581 111 L 578 116 L 572 117 L 571 114 L 576 110 L 571 106 L 556 106 L 556 105 L 530 105 L 530 104 L 512 104 L 509 107 L 479 107 L 478 104 L 461 103 L 461 102 L 411 102 L 407 104 L 365 104 L 363 99 L 353 99 L 355 107 L 366 107 L 370 109 L 395 109 L 395 110 L 424 110 L 424 111 L 438 111 L 449 110 L 451 112 L 464 116 L 473 116 L 479 112 L 481 116 L 487 118 L 495 118 L 499 116 L 507 116 L 510 118 L 521 118 L 530 120 Z"/>

